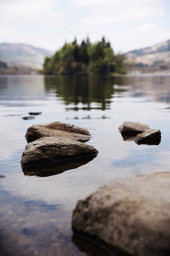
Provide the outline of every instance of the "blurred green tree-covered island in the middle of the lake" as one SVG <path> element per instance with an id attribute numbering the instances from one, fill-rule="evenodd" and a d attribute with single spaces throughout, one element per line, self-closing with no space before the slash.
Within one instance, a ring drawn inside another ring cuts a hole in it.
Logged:
<path id="1" fill-rule="evenodd" d="M 74 75 L 74 74 L 111 74 L 126 73 L 125 56 L 115 55 L 109 42 L 103 37 L 97 43 L 83 40 L 78 45 L 76 38 L 64 46 L 50 58 L 45 57 L 43 74 Z"/>

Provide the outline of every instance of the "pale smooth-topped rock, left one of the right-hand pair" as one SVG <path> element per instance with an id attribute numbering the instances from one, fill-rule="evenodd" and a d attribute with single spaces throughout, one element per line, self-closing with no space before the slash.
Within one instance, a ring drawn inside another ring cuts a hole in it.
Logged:
<path id="1" fill-rule="evenodd" d="M 118 129 L 121 133 L 140 133 L 150 129 L 150 127 L 147 124 L 125 121 Z"/>

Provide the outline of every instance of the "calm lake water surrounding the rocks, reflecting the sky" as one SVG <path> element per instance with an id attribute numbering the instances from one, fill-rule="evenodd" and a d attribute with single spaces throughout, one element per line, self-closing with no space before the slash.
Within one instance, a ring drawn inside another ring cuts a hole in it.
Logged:
<path id="1" fill-rule="evenodd" d="M 42 114 L 23 120 L 29 112 Z M 62 174 L 24 174 L 27 128 L 55 121 L 87 128 L 98 156 Z M 160 144 L 123 139 L 124 121 L 160 129 Z M 0 136 L 1 256 L 107 255 L 72 235 L 72 210 L 108 181 L 169 171 L 170 74 L 0 76 Z"/>

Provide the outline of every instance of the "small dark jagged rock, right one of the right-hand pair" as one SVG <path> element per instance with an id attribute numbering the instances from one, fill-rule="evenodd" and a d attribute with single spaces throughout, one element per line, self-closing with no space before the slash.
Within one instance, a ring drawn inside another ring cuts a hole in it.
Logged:
<path id="1" fill-rule="evenodd" d="M 134 141 L 137 144 L 151 144 L 158 145 L 161 140 L 161 132 L 160 130 L 148 129 L 145 132 L 137 134 L 134 138 Z"/>

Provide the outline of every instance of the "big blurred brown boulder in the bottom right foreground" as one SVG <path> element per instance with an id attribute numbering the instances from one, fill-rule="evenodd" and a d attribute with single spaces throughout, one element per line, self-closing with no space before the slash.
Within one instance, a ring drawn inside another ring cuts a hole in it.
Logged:
<path id="1" fill-rule="evenodd" d="M 170 172 L 102 186 L 78 202 L 72 228 L 123 255 L 170 255 Z"/>

